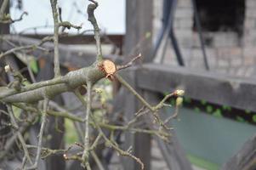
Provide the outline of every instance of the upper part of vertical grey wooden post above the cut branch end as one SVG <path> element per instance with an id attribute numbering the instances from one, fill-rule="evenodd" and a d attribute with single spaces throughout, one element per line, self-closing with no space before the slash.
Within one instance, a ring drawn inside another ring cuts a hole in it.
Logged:
<path id="1" fill-rule="evenodd" d="M 135 46 L 140 43 L 135 53 L 141 53 L 144 58 L 150 56 L 151 37 L 145 38 L 147 32 L 152 33 L 152 0 L 126 1 L 126 36 L 124 37 L 125 60 L 129 60 L 129 54 L 134 51 Z"/>

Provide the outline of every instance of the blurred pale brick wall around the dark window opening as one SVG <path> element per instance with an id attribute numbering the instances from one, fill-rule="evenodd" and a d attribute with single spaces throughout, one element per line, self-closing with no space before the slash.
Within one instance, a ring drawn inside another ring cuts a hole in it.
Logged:
<path id="1" fill-rule="evenodd" d="M 256 64 L 256 0 L 245 1 L 242 36 L 235 31 L 204 31 L 206 53 L 211 71 L 239 77 L 255 74 Z M 179 0 L 174 16 L 174 32 L 185 65 L 204 70 L 202 49 L 197 31 L 193 31 L 193 7 L 191 0 Z M 162 0 L 154 0 L 153 36 L 161 27 Z M 153 38 L 155 40 L 156 38 Z M 164 64 L 177 65 L 170 42 Z"/>

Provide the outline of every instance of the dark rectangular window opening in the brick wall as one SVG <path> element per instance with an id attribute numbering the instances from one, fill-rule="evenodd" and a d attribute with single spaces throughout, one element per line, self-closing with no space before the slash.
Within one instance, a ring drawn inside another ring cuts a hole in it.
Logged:
<path id="1" fill-rule="evenodd" d="M 202 31 L 235 31 L 242 35 L 244 0 L 196 0 L 196 7 Z"/>

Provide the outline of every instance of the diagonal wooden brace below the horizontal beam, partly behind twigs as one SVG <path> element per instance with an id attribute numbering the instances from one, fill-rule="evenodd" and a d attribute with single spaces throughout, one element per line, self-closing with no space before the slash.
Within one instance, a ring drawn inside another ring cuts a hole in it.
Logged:
<path id="1" fill-rule="evenodd" d="M 158 95 L 154 92 L 146 91 L 145 92 L 145 99 L 147 99 L 151 105 L 156 105 L 159 103 L 160 99 L 158 98 Z M 163 111 L 162 111 L 163 112 Z M 161 114 L 162 120 L 167 118 L 166 114 Z M 148 121 L 148 126 L 151 127 L 152 121 L 150 119 L 146 119 Z M 170 170 L 192 170 L 190 161 L 187 160 L 185 156 L 185 151 L 179 144 L 179 140 L 175 134 L 174 131 L 172 131 L 171 136 L 171 143 L 165 143 L 162 141 L 162 139 L 159 139 L 157 137 L 154 137 L 156 139 L 156 142 L 158 144 L 159 149 L 162 152 L 162 156 L 164 157 L 168 168 Z"/>

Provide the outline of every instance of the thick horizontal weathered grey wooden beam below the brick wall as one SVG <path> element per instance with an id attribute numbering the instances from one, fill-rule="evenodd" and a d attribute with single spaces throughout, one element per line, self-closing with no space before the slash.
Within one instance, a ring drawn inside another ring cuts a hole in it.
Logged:
<path id="1" fill-rule="evenodd" d="M 192 99 L 256 111 L 253 102 L 256 99 L 256 82 L 253 79 L 148 64 L 137 71 L 137 80 L 138 87 L 142 89 L 165 93 L 183 88 L 185 95 Z"/>

